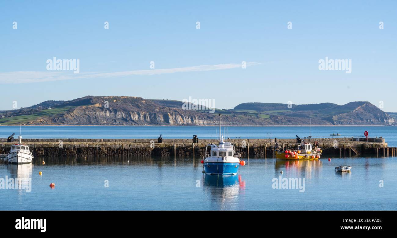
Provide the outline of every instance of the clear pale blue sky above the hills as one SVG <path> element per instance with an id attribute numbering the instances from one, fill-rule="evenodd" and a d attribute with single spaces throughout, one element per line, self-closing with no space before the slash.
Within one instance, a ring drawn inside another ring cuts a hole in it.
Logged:
<path id="1" fill-rule="evenodd" d="M 113 95 L 208 98 L 216 108 L 383 101 L 397 111 L 396 10 L 395 1 L 2 1 L 0 110 Z M 53 57 L 79 59 L 79 74 L 46 70 Z M 319 70 L 325 57 L 351 59 L 351 74 Z"/>

